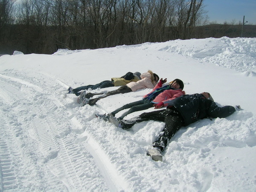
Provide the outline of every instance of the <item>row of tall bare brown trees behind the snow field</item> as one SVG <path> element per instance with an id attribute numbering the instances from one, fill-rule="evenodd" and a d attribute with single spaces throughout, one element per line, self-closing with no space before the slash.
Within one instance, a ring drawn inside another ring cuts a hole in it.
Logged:
<path id="1" fill-rule="evenodd" d="M 195 38 L 204 0 L 0 0 L 0 53 Z"/>

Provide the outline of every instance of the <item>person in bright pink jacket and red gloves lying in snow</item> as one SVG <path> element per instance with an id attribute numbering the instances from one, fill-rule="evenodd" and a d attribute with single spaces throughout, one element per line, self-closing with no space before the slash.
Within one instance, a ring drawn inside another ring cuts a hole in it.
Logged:
<path id="1" fill-rule="evenodd" d="M 159 83 L 154 87 L 154 89 L 143 96 L 143 99 L 137 102 L 128 103 L 123 105 L 121 108 L 116 109 L 115 111 L 109 114 L 100 114 L 96 113 L 95 116 L 101 119 L 108 119 L 109 115 L 115 116 L 116 113 L 124 109 L 131 108 L 129 111 L 125 112 L 118 119 L 121 120 L 125 116 L 135 111 L 142 111 L 155 106 L 155 109 L 166 107 L 169 102 L 179 96 L 185 95 L 183 91 L 184 84 L 180 79 L 175 79 L 171 81 L 168 85 L 163 86 L 166 83 L 167 79 L 160 79 Z M 162 87 L 163 86 L 163 87 Z"/>

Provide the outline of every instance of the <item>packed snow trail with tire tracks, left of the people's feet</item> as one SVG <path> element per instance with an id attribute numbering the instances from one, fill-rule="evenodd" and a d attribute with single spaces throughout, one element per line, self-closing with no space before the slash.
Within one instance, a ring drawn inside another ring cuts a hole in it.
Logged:
<path id="1" fill-rule="evenodd" d="M 103 169 L 104 161 L 93 163 L 95 159 L 90 152 L 75 142 L 76 132 L 71 131 L 74 126 L 71 117 L 63 113 L 67 110 L 61 103 L 63 100 L 56 99 L 48 87 L 51 84 L 54 90 L 55 87 L 60 88 L 55 83 L 58 81 L 49 79 L 49 76 L 44 79 L 44 75 L 39 73 L 36 76 L 41 76 L 41 79 L 24 71 L 10 71 L 0 76 L 1 111 L 4 111 L 0 113 L 2 189 L 51 190 L 56 185 L 64 191 L 92 191 L 99 186 L 102 190 L 115 189 L 115 186 L 120 189 L 115 180 L 111 186 L 105 183 L 99 170 Z M 31 162 L 26 162 L 27 159 Z M 41 169 L 45 171 L 41 172 Z M 25 182 L 28 186 L 23 186 L 22 177 L 25 176 L 26 180 L 36 182 L 29 185 Z M 44 182 L 35 176 L 42 177 Z"/>

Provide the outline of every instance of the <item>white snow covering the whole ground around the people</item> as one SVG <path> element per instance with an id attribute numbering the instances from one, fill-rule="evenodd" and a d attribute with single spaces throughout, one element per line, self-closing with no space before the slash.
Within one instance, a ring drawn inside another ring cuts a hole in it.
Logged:
<path id="1" fill-rule="evenodd" d="M 69 86 L 147 70 L 168 82 L 183 80 L 187 94 L 207 91 L 217 105 L 241 105 L 242 110 L 181 128 L 163 151 L 163 162 L 155 162 L 146 151 L 163 122 L 141 122 L 122 130 L 94 116 L 140 100 L 150 89 L 109 96 L 84 107 L 74 94 L 66 94 Z M 256 38 L 3 55 L 0 191 L 254 192 L 255 88 Z"/>

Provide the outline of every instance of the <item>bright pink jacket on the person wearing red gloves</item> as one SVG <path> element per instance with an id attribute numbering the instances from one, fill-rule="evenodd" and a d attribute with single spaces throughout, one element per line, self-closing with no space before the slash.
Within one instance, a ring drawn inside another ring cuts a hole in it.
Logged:
<path id="1" fill-rule="evenodd" d="M 150 92 L 152 93 L 154 90 L 160 88 L 160 86 L 157 84 L 154 89 Z M 148 94 L 150 94 L 148 93 Z M 144 95 L 143 98 L 147 97 L 147 95 Z M 168 90 L 165 90 L 163 91 L 162 93 L 160 93 L 158 96 L 156 96 L 156 98 L 151 101 L 152 103 L 160 103 L 160 102 L 163 102 L 164 106 L 166 107 L 169 102 L 177 97 L 180 97 L 182 95 L 185 95 L 185 91 L 181 90 L 181 89 L 175 89 L 175 90 L 172 90 L 172 89 L 168 89 Z"/>

